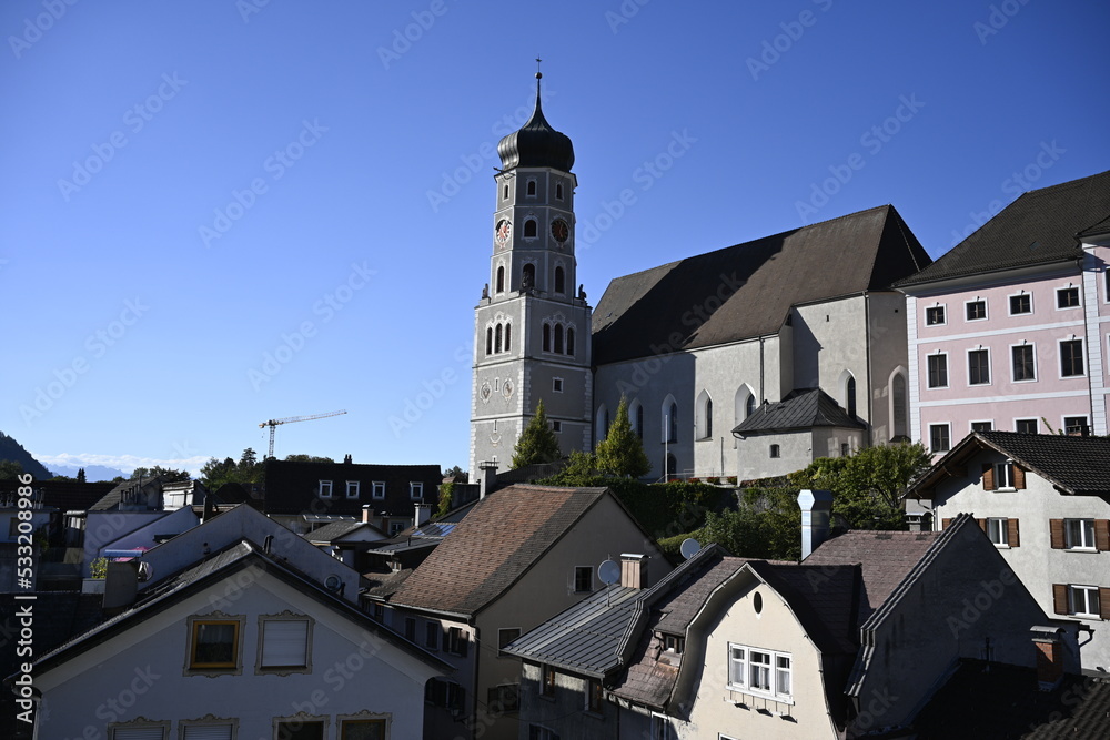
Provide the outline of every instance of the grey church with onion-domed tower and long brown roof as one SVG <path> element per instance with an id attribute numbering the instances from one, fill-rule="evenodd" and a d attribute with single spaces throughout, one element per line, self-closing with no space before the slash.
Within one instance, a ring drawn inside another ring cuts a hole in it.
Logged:
<path id="1" fill-rule="evenodd" d="M 906 298 L 929 259 L 890 205 L 576 287 L 574 146 L 536 108 L 497 145 L 475 308 L 470 470 L 511 465 L 542 401 L 564 454 L 626 397 L 649 478 L 784 475 L 908 438 Z"/>

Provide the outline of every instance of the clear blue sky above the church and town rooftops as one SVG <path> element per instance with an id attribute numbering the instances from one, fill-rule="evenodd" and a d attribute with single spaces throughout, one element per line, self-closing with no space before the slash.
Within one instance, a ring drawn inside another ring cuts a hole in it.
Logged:
<path id="1" fill-rule="evenodd" d="M 72 0 L 71 0 L 72 1 Z M 492 150 L 574 142 L 578 278 L 892 203 L 934 256 L 1110 169 L 1104 2 L 0 6 L 0 430 L 41 460 L 466 466 Z M 624 201 L 622 203 L 622 200 Z"/>

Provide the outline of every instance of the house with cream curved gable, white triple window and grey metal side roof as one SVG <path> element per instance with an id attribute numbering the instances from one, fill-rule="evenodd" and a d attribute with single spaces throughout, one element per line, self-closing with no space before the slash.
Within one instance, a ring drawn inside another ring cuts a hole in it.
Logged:
<path id="1" fill-rule="evenodd" d="M 521 737 L 910 737 L 966 658 L 1032 668 L 1039 625 L 1059 667 L 1077 670 L 1067 630 L 962 516 L 945 533 L 849 531 L 801 564 L 709 546 L 647 589 L 591 596 L 506 652 L 524 661 Z"/>

